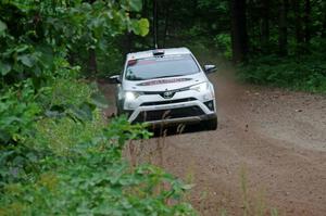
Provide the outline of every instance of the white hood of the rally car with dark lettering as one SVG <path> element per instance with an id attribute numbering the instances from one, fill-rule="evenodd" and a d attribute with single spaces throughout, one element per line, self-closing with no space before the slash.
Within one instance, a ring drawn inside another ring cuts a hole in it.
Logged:
<path id="1" fill-rule="evenodd" d="M 208 78 L 204 74 L 198 73 L 188 76 L 166 77 L 141 81 L 124 80 L 123 88 L 126 91 L 170 91 L 201 84 L 206 80 Z"/>

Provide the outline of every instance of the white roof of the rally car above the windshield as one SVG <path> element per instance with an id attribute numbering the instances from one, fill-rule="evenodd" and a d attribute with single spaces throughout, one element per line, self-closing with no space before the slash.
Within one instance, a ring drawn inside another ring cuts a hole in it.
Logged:
<path id="1" fill-rule="evenodd" d="M 188 48 L 168 48 L 168 49 L 158 49 L 158 50 L 164 51 L 164 55 L 191 54 L 191 52 Z M 141 52 L 128 53 L 127 61 L 154 56 L 153 51 L 155 51 L 155 50 L 147 50 L 147 51 L 141 51 Z"/>

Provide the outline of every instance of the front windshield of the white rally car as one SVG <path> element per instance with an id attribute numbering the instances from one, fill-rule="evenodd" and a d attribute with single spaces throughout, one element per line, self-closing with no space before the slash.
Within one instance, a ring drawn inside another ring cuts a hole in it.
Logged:
<path id="1" fill-rule="evenodd" d="M 146 80 L 196 74 L 199 67 L 190 54 L 163 55 L 129 60 L 126 69 L 127 80 Z"/>

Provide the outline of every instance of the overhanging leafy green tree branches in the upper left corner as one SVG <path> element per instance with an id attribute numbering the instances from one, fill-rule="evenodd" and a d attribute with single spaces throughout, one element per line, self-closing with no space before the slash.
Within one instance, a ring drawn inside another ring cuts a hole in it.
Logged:
<path id="1" fill-rule="evenodd" d="M 108 39 L 124 30 L 143 36 L 149 29 L 148 21 L 130 18 L 127 13 L 140 9 L 140 0 L 2 1 L 0 74 L 5 81 L 30 76 L 41 79 L 55 73 L 63 66 L 55 63 L 67 54 L 74 55 L 76 50 L 98 48 L 108 52 Z M 78 59 L 76 54 L 74 58 Z"/>

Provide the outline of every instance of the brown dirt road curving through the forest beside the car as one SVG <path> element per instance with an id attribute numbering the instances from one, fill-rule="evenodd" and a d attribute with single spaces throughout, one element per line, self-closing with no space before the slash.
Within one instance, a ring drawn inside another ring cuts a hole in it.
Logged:
<path id="1" fill-rule="evenodd" d="M 189 200 L 201 215 L 326 215 L 326 98 L 211 80 L 218 129 L 145 141 L 138 161 L 195 183 Z"/>

